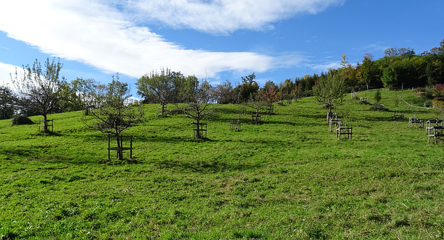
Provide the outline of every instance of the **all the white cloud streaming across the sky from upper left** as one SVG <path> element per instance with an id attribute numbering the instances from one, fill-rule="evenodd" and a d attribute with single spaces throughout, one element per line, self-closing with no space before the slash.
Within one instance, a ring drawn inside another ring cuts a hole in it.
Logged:
<path id="1" fill-rule="evenodd" d="M 185 75 L 212 78 L 221 71 L 260 73 L 289 67 L 303 58 L 294 54 L 289 58 L 288 55 L 273 57 L 253 52 L 186 49 L 147 27 L 130 22 L 133 21 L 130 16 L 141 21 L 142 16 L 149 15 L 169 26 L 228 33 L 241 28 L 259 29 L 300 12 L 316 13 L 341 1 L 15 0 L 0 4 L 0 31 L 37 46 L 44 53 L 83 62 L 109 73 L 139 78 L 152 69 L 169 67 Z M 135 8 L 142 10 L 137 11 L 138 15 L 129 14 Z"/>

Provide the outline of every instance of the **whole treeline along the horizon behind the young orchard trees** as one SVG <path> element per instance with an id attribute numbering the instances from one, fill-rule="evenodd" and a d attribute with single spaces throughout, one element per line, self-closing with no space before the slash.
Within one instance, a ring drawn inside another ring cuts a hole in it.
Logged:
<path id="1" fill-rule="evenodd" d="M 219 104 L 245 103 L 257 96 L 264 96 L 268 101 L 290 100 L 305 96 L 313 96 L 313 89 L 321 78 L 334 74 L 342 78 L 345 89 L 360 91 L 364 89 L 386 88 L 386 89 L 409 89 L 412 87 L 429 87 L 444 84 L 444 40 L 439 46 L 430 51 L 420 54 L 410 48 L 386 49 L 384 57 L 377 60 L 373 55 L 366 53 L 361 63 L 352 66 L 347 62 L 345 53 L 341 56 L 341 67 L 329 69 L 321 74 L 305 75 L 295 80 L 287 79 L 275 84 L 268 80 L 264 86 L 259 87 L 255 81 L 255 74 L 241 77 L 241 83 L 233 86 L 230 80 L 210 89 L 212 101 Z M 36 60 L 35 64 L 40 65 Z M 49 64 L 49 60 L 46 64 Z M 58 63 L 58 71 L 62 65 Z M 51 105 L 51 112 L 71 112 L 84 110 L 85 96 L 97 87 L 105 85 L 94 79 L 78 78 L 67 82 L 65 79 L 54 79 L 56 89 L 53 98 L 56 103 Z M 28 66 L 28 72 L 31 68 Z M 17 79 L 16 79 L 17 81 Z M 18 80 L 19 82 L 19 80 Z M 198 80 L 195 76 L 183 76 L 180 72 L 171 69 L 161 69 L 160 72 L 153 71 L 145 74 L 137 80 L 137 93 L 142 96 L 144 103 L 160 103 L 162 106 L 168 103 L 187 101 L 182 98 L 182 89 L 196 89 L 206 80 Z M 184 88 L 185 87 L 185 88 Z M 38 87 L 37 87 L 38 89 Z M 41 92 L 44 94 L 44 89 Z M 40 91 L 39 90 L 39 91 Z M 39 111 L 30 104 L 26 96 L 17 96 L 15 91 L 6 86 L 0 86 L 0 119 L 9 119 L 19 113 L 25 116 L 39 114 Z M 40 111 L 41 112 L 41 111 Z"/>

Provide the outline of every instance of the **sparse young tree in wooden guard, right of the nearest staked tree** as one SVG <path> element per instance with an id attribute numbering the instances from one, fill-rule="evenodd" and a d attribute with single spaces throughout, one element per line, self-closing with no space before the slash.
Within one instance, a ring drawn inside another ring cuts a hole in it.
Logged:
<path id="1" fill-rule="evenodd" d="M 185 103 L 176 103 L 176 107 L 186 117 L 196 121 L 196 137 L 198 140 L 203 139 L 203 130 L 201 129 L 201 121 L 208 114 L 211 114 L 216 108 L 216 97 L 212 86 L 207 80 L 199 84 L 196 76 L 188 76 L 181 86 L 181 96 L 185 99 Z"/>

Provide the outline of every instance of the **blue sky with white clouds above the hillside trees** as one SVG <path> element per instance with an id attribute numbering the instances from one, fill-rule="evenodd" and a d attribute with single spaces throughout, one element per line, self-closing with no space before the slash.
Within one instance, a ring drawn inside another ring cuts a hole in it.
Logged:
<path id="1" fill-rule="evenodd" d="M 0 3 L 0 84 L 15 67 L 60 57 L 69 81 L 133 88 L 162 67 L 212 85 L 255 73 L 259 86 L 361 62 L 390 47 L 429 51 L 444 38 L 444 1 L 15 0 Z"/>

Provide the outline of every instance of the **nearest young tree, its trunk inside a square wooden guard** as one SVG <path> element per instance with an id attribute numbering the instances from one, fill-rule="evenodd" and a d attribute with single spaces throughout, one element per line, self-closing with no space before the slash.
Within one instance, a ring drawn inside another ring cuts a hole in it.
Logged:
<path id="1" fill-rule="evenodd" d="M 89 99 L 93 107 L 83 122 L 94 130 L 113 135 L 117 139 L 117 158 L 123 160 L 121 132 L 144 117 L 143 106 L 132 102 L 128 83 L 121 83 L 119 76 L 112 76 L 108 85 L 99 85 Z"/>

